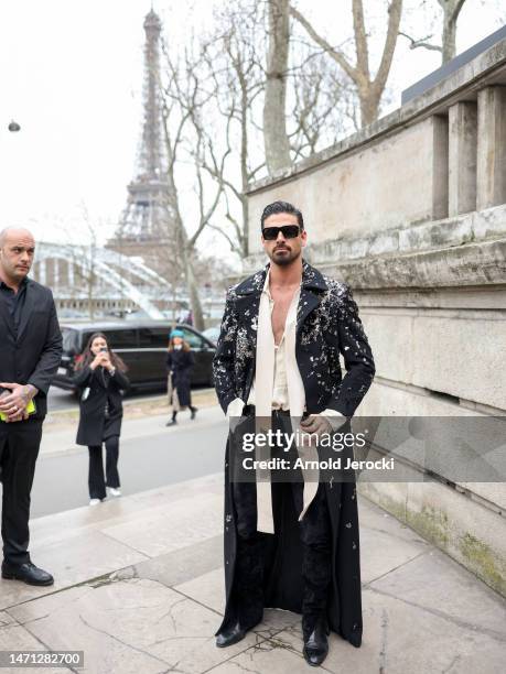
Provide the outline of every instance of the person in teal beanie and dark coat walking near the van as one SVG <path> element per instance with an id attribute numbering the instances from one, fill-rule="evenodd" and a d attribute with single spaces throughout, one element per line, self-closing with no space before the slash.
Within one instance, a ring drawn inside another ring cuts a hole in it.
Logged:
<path id="1" fill-rule="evenodd" d="M 174 329 L 171 333 L 166 355 L 168 395 L 172 405 L 172 418 L 168 426 L 177 423 L 177 412 L 190 407 L 191 418 L 195 418 L 197 409 L 192 405 L 191 373 L 195 365 L 195 357 L 187 341 L 184 340 L 183 330 Z"/>

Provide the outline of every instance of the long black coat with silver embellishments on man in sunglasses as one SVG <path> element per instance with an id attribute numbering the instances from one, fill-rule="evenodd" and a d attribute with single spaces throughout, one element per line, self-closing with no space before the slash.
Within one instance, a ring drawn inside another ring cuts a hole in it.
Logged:
<path id="1" fill-rule="evenodd" d="M 224 412 L 236 398 L 248 400 L 255 377 L 260 295 L 268 267 L 233 286 L 226 298 L 213 363 L 214 381 Z M 340 354 L 346 373 L 343 377 Z M 295 357 L 310 414 L 331 407 L 352 417 L 375 374 L 373 354 L 349 287 L 322 275 L 303 262 L 297 313 Z M 362 604 L 358 511 L 355 483 L 331 481 L 325 492 L 333 529 L 333 580 L 327 602 L 332 630 L 358 646 L 362 642 Z M 297 513 L 282 508 L 282 542 L 273 535 L 274 575 L 266 574 L 266 606 L 301 611 L 301 542 Z M 272 547 L 272 546 L 271 546 Z M 229 480 L 229 443 L 225 457 L 225 617 L 218 632 L 237 619 L 234 585 L 237 525 Z M 297 568 L 294 568 L 297 565 Z M 297 577 L 299 581 L 294 583 Z M 290 581 L 288 580 L 290 579 Z"/>

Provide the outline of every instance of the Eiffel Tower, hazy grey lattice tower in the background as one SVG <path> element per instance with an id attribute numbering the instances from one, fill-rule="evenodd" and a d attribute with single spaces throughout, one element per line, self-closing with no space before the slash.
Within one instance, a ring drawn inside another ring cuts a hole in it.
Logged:
<path id="1" fill-rule="evenodd" d="M 127 205 L 115 237 L 107 248 L 125 256 L 138 256 L 160 273 L 157 249 L 161 239 L 169 238 L 170 222 L 166 203 L 166 161 L 162 134 L 160 100 L 160 33 L 162 23 L 150 10 L 143 23 L 144 78 L 142 132 L 137 152 L 136 175 L 127 186 Z"/>

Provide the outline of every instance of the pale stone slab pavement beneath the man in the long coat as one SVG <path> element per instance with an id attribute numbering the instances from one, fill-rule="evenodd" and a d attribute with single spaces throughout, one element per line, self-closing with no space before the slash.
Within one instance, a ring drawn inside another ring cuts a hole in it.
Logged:
<path id="1" fill-rule="evenodd" d="M 504 600 L 364 497 L 358 507 L 363 645 L 332 634 L 322 671 L 504 672 Z M 215 646 L 222 475 L 40 518 L 31 532 L 55 585 L 0 580 L 0 650 L 83 650 L 93 674 L 309 671 L 288 611 L 266 610 L 244 641 Z"/>

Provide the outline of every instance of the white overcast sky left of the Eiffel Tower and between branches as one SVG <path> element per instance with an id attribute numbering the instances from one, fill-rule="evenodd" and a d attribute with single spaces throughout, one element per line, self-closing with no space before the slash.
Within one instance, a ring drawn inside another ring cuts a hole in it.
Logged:
<path id="1" fill-rule="evenodd" d="M 170 43 L 177 44 L 189 26 L 198 32 L 208 24 L 213 2 L 219 0 L 195 0 L 193 11 L 181 0 L 153 4 Z M 1 2 L 0 228 L 24 225 L 37 238 L 54 240 L 62 227 L 82 227 L 84 204 L 104 222 L 105 235 L 107 228 L 111 231 L 133 177 L 141 124 L 142 21 L 150 4 Z M 349 0 L 298 2 L 334 43 L 349 31 Z M 367 6 L 383 15 L 383 0 Z M 459 24 L 459 51 L 500 26 L 505 11 L 498 8 L 494 0 L 467 0 Z M 413 12 L 408 14 L 411 25 Z M 398 107 L 401 89 L 438 65 L 437 53 L 409 51 L 400 39 L 389 80 L 391 108 Z M 11 119 L 21 124 L 19 133 L 8 132 Z"/>

